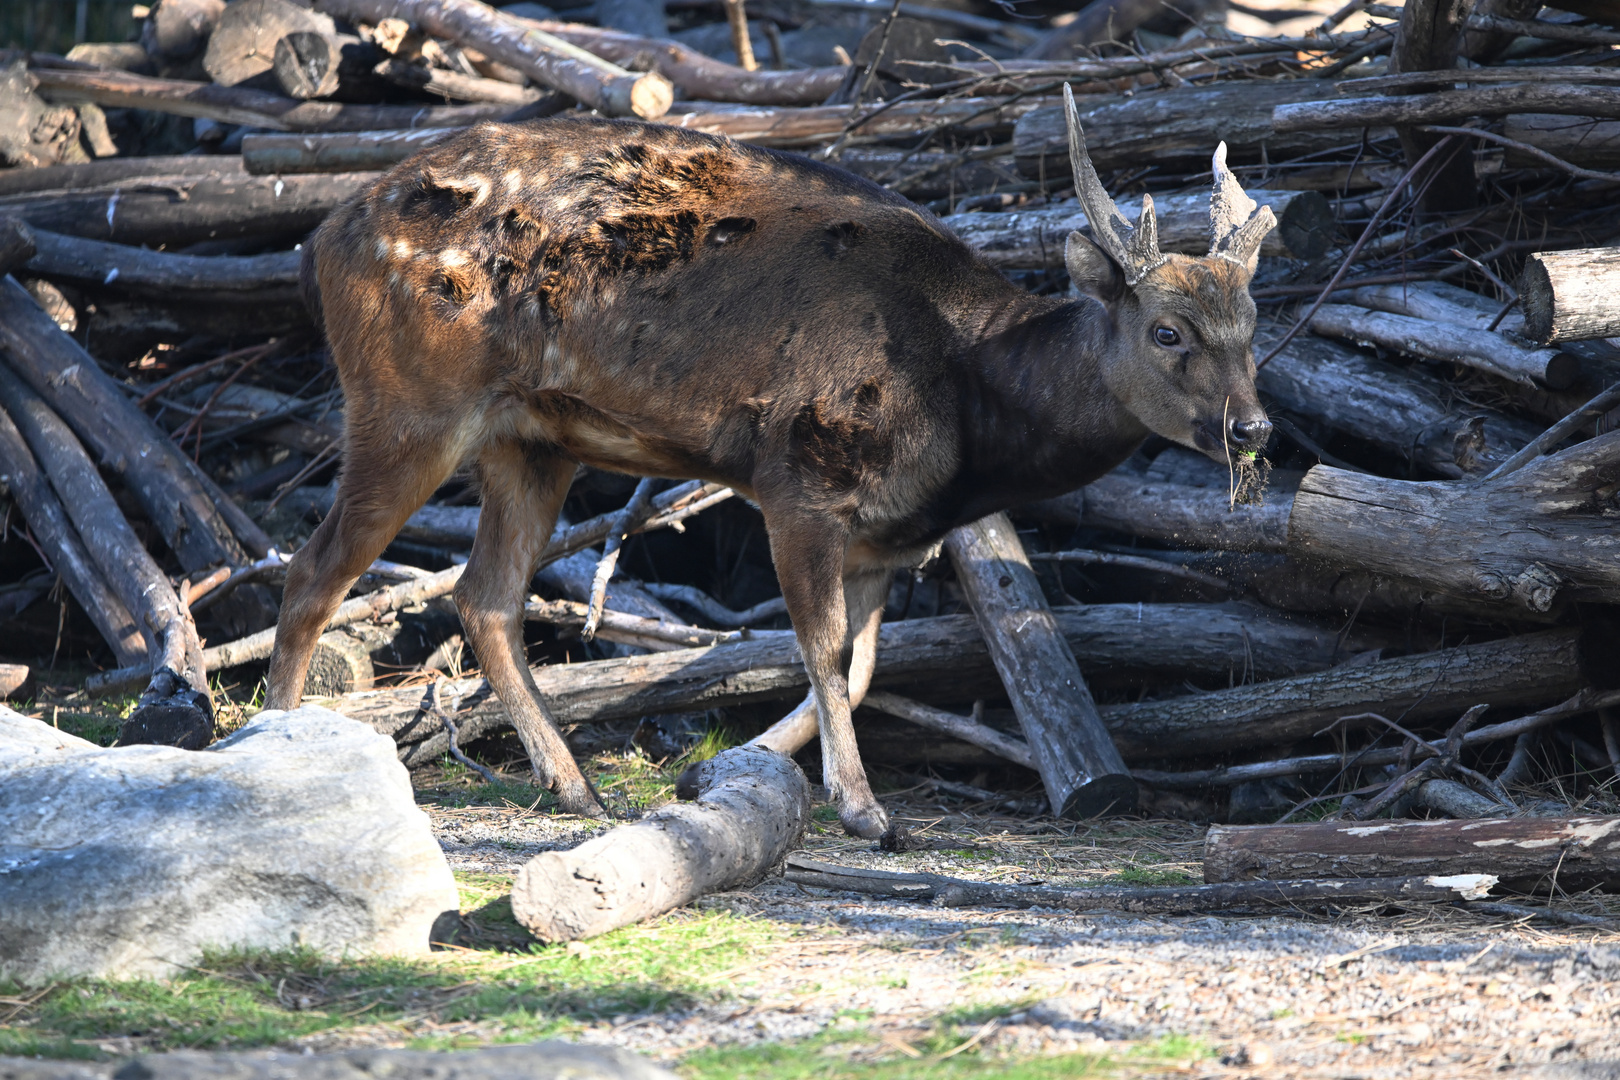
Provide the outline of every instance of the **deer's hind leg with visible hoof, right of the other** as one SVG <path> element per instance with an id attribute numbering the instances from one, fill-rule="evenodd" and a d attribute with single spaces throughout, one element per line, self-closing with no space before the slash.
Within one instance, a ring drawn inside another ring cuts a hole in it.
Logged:
<path id="1" fill-rule="evenodd" d="M 573 460 L 535 442 L 502 440 L 478 458 L 483 512 L 467 572 L 455 586 L 467 640 L 523 740 L 530 766 L 562 810 L 604 816 L 556 721 L 539 696 L 523 651 L 523 597 L 573 479 Z"/>

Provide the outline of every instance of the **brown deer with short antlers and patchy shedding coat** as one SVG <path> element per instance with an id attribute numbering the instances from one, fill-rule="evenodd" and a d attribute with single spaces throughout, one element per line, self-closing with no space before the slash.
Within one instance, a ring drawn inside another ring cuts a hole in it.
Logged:
<path id="1" fill-rule="evenodd" d="M 392 168 L 305 244 L 345 397 L 330 513 L 287 573 L 266 706 L 457 470 L 481 518 L 454 599 L 538 782 L 604 816 L 526 664 L 522 601 L 578 465 L 731 486 L 763 515 L 842 827 L 886 813 L 850 709 L 894 572 L 957 525 L 1072 491 L 1150 434 L 1228 463 L 1254 387 L 1260 241 L 1215 151 L 1207 256 L 1158 249 L 1092 167 L 1072 296 L 1032 295 L 935 215 L 810 157 L 674 126 L 483 123 Z"/>

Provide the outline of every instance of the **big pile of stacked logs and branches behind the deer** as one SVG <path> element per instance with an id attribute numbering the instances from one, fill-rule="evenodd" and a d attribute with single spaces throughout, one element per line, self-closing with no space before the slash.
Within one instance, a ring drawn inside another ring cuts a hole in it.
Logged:
<path id="1" fill-rule="evenodd" d="M 296 244 L 418 149 L 570 115 L 726 134 L 865 175 L 1061 293 L 1089 227 L 1069 84 L 1163 249 L 1209 244 L 1217 141 L 1277 214 L 1254 288 L 1277 437 L 1228 463 L 1153 440 L 954 533 L 896 580 L 867 761 L 1066 814 L 1482 816 L 1552 780 L 1605 790 L 1620 19 L 1456 6 L 1353 0 L 1247 37 L 1223 5 L 1168 0 L 159 0 L 138 44 L 0 57 L 0 100 L 31 118 L 0 130 L 0 610 L 28 628 L 3 648 L 49 654 L 60 581 L 99 638 L 86 690 L 138 695 L 123 742 L 204 745 L 220 685 L 251 695 L 340 457 Z M 458 478 L 407 523 L 311 674 L 411 766 L 509 729 L 447 599 L 475 502 Z M 813 761 L 758 515 L 595 473 L 565 513 L 526 619 L 577 745 L 669 756 L 724 724 Z"/>

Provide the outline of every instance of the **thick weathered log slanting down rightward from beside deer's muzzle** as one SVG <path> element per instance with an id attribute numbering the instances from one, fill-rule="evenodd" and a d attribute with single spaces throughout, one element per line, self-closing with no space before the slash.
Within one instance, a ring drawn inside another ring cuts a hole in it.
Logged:
<path id="1" fill-rule="evenodd" d="M 1262 325 L 1256 351 L 1281 335 Z M 1489 473 L 1541 431 L 1487 408 L 1460 408 L 1452 385 L 1338 342 L 1301 334 L 1260 368 L 1268 405 L 1408 461 L 1413 473 L 1458 479 Z"/>

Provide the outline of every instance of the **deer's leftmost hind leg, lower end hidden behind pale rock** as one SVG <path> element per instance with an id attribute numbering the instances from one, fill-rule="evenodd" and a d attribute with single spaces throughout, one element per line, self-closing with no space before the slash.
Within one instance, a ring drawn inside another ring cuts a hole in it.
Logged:
<path id="1" fill-rule="evenodd" d="M 410 453 L 348 440 L 332 512 L 287 568 L 264 708 L 298 708 L 314 644 L 343 596 L 457 465 L 449 437 L 423 439 Z"/>

